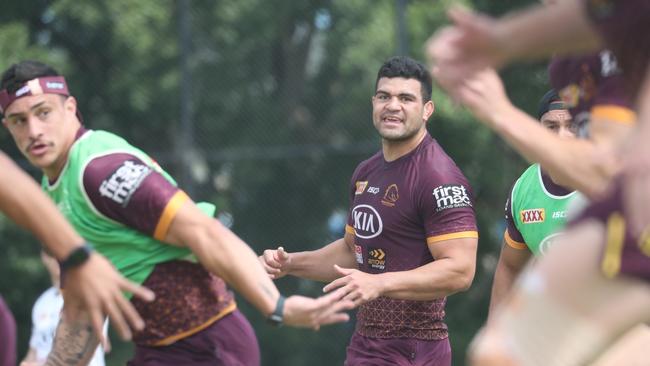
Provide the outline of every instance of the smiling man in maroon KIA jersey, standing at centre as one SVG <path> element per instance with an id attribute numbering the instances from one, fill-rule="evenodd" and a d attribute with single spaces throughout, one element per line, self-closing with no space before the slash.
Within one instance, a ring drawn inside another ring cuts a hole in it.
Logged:
<path id="1" fill-rule="evenodd" d="M 342 239 L 262 256 L 273 278 L 330 282 L 359 305 L 345 365 L 451 365 L 446 296 L 472 283 L 478 232 L 471 188 L 426 129 L 431 76 L 407 57 L 379 69 L 372 119 L 382 150 L 350 180 Z"/>

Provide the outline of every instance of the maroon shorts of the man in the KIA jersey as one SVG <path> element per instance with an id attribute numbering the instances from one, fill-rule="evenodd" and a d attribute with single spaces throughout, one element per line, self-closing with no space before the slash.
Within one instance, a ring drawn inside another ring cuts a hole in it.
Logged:
<path id="1" fill-rule="evenodd" d="M 368 338 L 354 333 L 345 366 L 451 366 L 449 338 Z"/>

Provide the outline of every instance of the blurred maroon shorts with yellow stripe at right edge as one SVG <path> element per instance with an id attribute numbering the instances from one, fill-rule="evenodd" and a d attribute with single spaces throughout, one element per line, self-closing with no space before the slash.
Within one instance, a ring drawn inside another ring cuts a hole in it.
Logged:
<path id="1" fill-rule="evenodd" d="M 606 277 L 625 275 L 650 282 L 650 223 L 642 237 L 632 235 L 625 222 L 621 181 L 617 180 L 610 193 L 589 205 L 571 225 L 596 219 L 607 230 L 599 263 Z"/>

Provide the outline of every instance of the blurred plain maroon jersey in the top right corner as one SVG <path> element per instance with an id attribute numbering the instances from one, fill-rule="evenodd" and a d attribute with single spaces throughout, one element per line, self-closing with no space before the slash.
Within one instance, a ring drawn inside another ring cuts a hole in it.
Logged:
<path id="1" fill-rule="evenodd" d="M 585 3 L 598 32 L 619 60 L 627 90 L 635 98 L 650 57 L 650 2 L 587 0 Z"/>

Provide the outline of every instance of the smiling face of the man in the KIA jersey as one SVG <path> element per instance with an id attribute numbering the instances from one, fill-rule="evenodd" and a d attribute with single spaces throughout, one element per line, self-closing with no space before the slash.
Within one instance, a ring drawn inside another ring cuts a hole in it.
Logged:
<path id="1" fill-rule="evenodd" d="M 406 141 L 425 128 L 433 113 L 433 102 L 423 103 L 416 79 L 381 78 L 372 97 L 372 120 L 386 141 Z"/>

